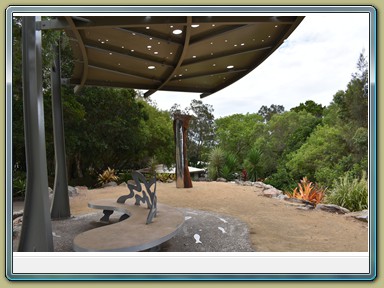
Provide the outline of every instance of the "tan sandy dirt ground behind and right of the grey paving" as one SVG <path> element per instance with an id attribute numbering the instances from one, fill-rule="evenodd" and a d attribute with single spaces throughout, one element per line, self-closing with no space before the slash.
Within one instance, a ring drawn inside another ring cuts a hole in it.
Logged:
<path id="1" fill-rule="evenodd" d="M 128 194 L 124 186 L 81 190 L 71 198 L 72 215 L 94 212 L 91 199 Z M 158 183 L 159 203 L 216 212 L 248 224 L 252 245 L 259 252 L 366 252 L 368 225 L 343 215 L 298 210 L 287 201 L 266 198 L 261 190 L 233 183 L 193 182 L 178 189 L 175 183 Z"/>

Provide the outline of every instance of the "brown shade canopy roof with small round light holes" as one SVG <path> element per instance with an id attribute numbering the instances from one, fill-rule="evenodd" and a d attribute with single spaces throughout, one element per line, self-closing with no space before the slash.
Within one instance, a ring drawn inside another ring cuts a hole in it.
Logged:
<path id="1" fill-rule="evenodd" d="M 66 16 L 42 22 L 64 29 L 74 54 L 70 80 L 201 93 L 227 87 L 260 65 L 296 29 L 299 16 Z"/>

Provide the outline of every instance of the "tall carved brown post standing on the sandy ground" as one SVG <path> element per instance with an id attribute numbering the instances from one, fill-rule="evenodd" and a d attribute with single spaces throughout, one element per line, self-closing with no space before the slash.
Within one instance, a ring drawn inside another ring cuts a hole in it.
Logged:
<path id="1" fill-rule="evenodd" d="M 173 131 L 176 144 L 176 187 L 192 188 L 191 175 L 188 169 L 187 159 L 187 131 L 191 116 L 175 114 Z"/>

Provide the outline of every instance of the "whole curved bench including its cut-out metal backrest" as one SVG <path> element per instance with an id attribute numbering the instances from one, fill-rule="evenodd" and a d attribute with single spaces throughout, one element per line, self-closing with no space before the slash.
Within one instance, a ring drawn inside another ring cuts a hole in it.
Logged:
<path id="1" fill-rule="evenodd" d="M 104 216 L 101 222 L 109 222 L 110 215 L 121 213 L 118 222 L 77 235 L 73 241 L 74 251 L 78 252 L 129 252 L 143 251 L 157 247 L 174 237 L 184 224 L 184 214 L 174 207 L 157 203 L 156 188 L 150 187 L 156 181 L 146 182 L 142 174 L 134 173 L 135 184 L 128 184 L 129 195 L 114 199 L 91 201 L 88 206 L 101 209 Z M 144 185 L 144 191 L 141 185 Z M 140 191 L 141 190 L 141 191 Z M 140 194 L 134 193 L 139 191 Z M 135 201 L 132 201 L 135 198 Z M 147 207 L 140 206 L 140 202 Z"/>

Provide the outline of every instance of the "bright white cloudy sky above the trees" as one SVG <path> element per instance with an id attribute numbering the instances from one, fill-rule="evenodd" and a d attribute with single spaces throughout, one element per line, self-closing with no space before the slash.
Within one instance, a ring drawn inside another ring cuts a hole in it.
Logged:
<path id="1" fill-rule="evenodd" d="M 345 90 L 360 53 L 369 56 L 368 13 L 311 13 L 261 65 L 232 85 L 201 99 L 215 118 L 257 113 L 261 106 L 283 105 L 285 111 L 313 100 L 328 106 Z M 161 110 L 181 109 L 199 93 L 159 91 L 151 96 Z"/>

